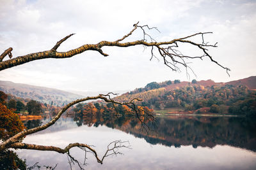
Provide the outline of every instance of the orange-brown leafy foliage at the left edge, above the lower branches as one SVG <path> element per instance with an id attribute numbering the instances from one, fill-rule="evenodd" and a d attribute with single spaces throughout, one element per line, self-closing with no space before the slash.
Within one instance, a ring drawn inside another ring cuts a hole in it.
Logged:
<path id="1" fill-rule="evenodd" d="M 24 129 L 19 116 L 0 103 L 0 139 L 6 140 Z"/>

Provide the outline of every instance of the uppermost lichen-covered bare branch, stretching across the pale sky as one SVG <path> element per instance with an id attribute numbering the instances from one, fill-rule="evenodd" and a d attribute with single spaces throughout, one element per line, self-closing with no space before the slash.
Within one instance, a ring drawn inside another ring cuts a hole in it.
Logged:
<path id="1" fill-rule="evenodd" d="M 61 43 L 66 41 L 68 38 L 70 38 L 70 36 L 74 35 L 74 34 L 70 34 L 70 35 L 66 36 L 65 38 L 61 39 L 60 41 L 58 41 L 56 43 L 56 45 L 54 45 L 54 47 L 51 50 L 47 50 L 44 52 L 30 53 L 28 55 L 15 57 L 14 59 L 9 59 L 9 60 L 0 62 L 0 71 L 3 69 L 13 67 L 13 66 L 19 66 L 20 64 L 24 64 L 26 62 L 31 62 L 33 60 L 49 59 L 49 58 L 64 59 L 64 58 L 68 58 L 68 57 L 73 57 L 74 55 L 83 53 L 87 50 L 95 50 L 95 51 L 99 52 L 101 55 L 108 56 L 107 53 L 104 53 L 101 50 L 101 48 L 103 46 L 128 47 L 128 46 L 135 46 L 135 45 L 151 46 L 152 47 L 152 50 L 151 50 L 152 57 L 153 56 L 156 57 L 156 55 L 154 54 L 154 47 L 158 48 L 159 55 L 163 58 L 164 64 L 166 66 L 170 67 L 173 71 L 177 71 L 177 69 L 179 70 L 179 67 L 177 66 L 177 64 L 179 66 L 188 67 L 188 62 L 186 62 L 186 59 L 196 59 L 196 58 L 202 59 L 203 57 L 208 57 L 209 59 L 211 59 L 212 62 L 215 62 L 216 64 L 218 64 L 218 66 L 223 67 L 223 69 L 226 69 L 227 73 L 228 73 L 228 71 L 230 71 L 230 69 L 228 69 L 228 67 L 224 67 L 221 64 L 219 64 L 216 60 L 214 60 L 212 58 L 212 56 L 209 54 L 209 52 L 207 52 L 207 48 L 217 47 L 216 44 L 209 45 L 208 43 L 204 42 L 204 34 L 211 34 L 212 32 L 198 32 L 196 34 L 191 34 L 191 35 L 183 37 L 183 38 L 173 39 L 171 41 L 157 42 L 154 38 L 152 38 L 145 31 L 145 29 L 148 29 L 148 30 L 156 29 L 158 31 L 158 29 L 156 27 L 148 27 L 148 25 L 140 26 L 140 25 L 138 25 L 138 22 L 136 24 L 134 24 L 133 26 L 134 26 L 134 28 L 128 34 L 126 34 L 124 37 L 122 37 L 120 39 L 117 39 L 116 41 L 100 41 L 97 44 L 85 44 L 78 48 L 69 50 L 67 52 L 57 52 L 56 50 L 61 45 Z M 131 36 L 132 33 L 137 28 L 140 28 L 143 31 L 143 39 L 137 40 L 137 41 L 120 43 L 120 41 L 124 41 L 125 38 Z M 189 38 L 193 38 L 195 36 L 202 36 L 202 43 L 196 43 L 194 41 L 189 41 Z M 149 38 L 149 41 L 147 40 L 147 38 Z M 178 50 L 176 48 L 179 48 L 178 43 L 187 43 L 189 45 L 195 46 L 195 48 L 197 50 L 200 50 L 202 52 L 202 55 L 193 57 L 193 56 L 184 56 L 184 55 L 182 55 L 181 52 L 177 53 Z M 167 47 L 164 47 L 164 46 L 167 46 Z M 152 57 L 151 57 L 151 59 L 152 59 Z"/>

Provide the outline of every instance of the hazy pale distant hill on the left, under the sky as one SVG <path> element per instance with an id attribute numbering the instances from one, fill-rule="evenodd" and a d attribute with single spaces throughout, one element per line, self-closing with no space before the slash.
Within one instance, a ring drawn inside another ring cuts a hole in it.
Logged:
<path id="1" fill-rule="evenodd" d="M 56 106 L 62 106 L 70 101 L 84 97 L 63 90 L 13 83 L 12 81 L 0 81 L 0 90 L 6 94 L 12 94 L 13 96 L 22 97 L 24 99 L 33 99 L 41 103 L 51 104 L 52 102 L 52 104 Z"/>

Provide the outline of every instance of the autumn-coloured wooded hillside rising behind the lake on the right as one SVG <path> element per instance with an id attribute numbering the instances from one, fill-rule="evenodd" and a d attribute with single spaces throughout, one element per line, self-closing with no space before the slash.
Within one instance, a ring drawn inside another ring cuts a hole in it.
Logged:
<path id="1" fill-rule="evenodd" d="M 256 110 L 255 85 L 256 76 L 227 83 L 168 80 L 148 83 L 143 88 L 115 97 L 115 100 L 128 102 L 140 98 L 143 101 L 136 101 L 136 104 L 157 110 L 185 108 L 198 113 L 208 110 L 212 113 L 251 114 Z"/>

